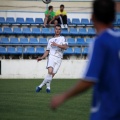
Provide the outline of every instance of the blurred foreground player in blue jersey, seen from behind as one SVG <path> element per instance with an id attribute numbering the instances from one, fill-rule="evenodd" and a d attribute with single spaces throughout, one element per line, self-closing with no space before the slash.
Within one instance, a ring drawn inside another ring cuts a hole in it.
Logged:
<path id="1" fill-rule="evenodd" d="M 120 120 L 120 32 L 112 28 L 115 14 L 113 0 L 93 2 L 97 36 L 90 47 L 85 75 L 75 87 L 53 97 L 51 108 L 93 86 L 90 120 Z"/>

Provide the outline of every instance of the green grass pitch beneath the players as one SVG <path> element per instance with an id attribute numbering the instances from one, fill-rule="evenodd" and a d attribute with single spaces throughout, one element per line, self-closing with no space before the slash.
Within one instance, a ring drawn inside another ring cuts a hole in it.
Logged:
<path id="1" fill-rule="evenodd" d="M 0 120 L 88 120 L 92 90 L 75 97 L 60 108 L 49 108 L 52 96 L 62 93 L 78 80 L 53 80 L 51 93 L 35 88 L 42 80 L 0 79 Z"/>

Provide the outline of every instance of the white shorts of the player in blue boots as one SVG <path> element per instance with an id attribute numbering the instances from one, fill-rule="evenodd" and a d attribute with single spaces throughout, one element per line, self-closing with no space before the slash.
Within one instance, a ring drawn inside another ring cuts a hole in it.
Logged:
<path id="1" fill-rule="evenodd" d="M 53 73 L 57 73 L 58 69 L 60 68 L 62 59 L 55 57 L 53 55 L 49 55 L 48 61 L 47 61 L 47 69 L 49 67 L 53 68 Z"/>

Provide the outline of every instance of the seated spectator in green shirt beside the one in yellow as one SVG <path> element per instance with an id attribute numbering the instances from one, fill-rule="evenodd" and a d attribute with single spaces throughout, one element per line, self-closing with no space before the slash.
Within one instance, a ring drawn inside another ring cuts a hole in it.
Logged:
<path id="1" fill-rule="evenodd" d="M 45 11 L 44 27 L 46 27 L 46 24 L 58 24 L 57 20 L 55 20 L 55 12 L 53 11 L 53 6 L 49 6 L 48 10 Z"/>

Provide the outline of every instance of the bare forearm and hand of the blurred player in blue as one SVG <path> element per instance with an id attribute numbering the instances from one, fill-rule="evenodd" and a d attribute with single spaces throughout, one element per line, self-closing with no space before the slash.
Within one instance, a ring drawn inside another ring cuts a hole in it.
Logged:
<path id="1" fill-rule="evenodd" d="M 59 105 L 64 103 L 66 100 L 86 91 L 88 88 L 90 88 L 92 85 L 94 85 L 94 82 L 88 82 L 84 79 L 81 79 L 78 84 L 76 84 L 72 89 L 69 91 L 53 97 L 51 101 L 51 108 L 56 109 Z"/>

